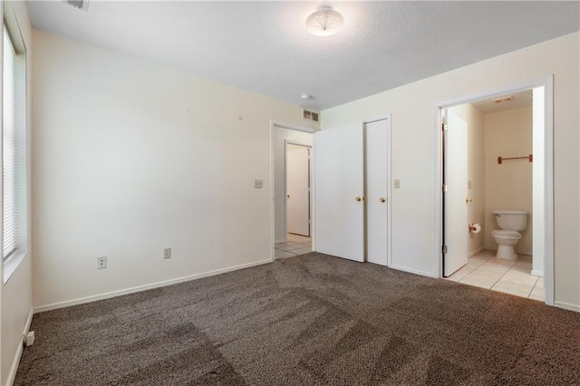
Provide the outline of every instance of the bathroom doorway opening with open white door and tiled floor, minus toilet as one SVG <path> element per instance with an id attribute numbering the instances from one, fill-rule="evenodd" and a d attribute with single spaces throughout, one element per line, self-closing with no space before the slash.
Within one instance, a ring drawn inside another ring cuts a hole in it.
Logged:
<path id="1" fill-rule="evenodd" d="M 553 302 L 552 125 L 546 101 L 551 78 L 440 105 L 441 277 Z M 491 231 L 498 229 L 493 212 L 499 209 L 527 212 L 527 227 L 515 234 L 521 238 L 514 259 L 496 256 L 498 238 Z"/>

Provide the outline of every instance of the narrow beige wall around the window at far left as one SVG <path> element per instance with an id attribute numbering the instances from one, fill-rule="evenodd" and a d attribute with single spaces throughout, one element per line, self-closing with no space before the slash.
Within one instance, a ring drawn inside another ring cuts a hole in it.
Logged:
<path id="1" fill-rule="evenodd" d="M 30 203 L 30 168 L 31 168 L 31 152 L 30 152 L 30 121 L 31 121 L 31 55 L 33 51 L 31 27 L 28 19 L 28 11 L 24 2 L 5 2 L 6 17 L 15 17 L 20 27 L 20 32 L 24 39 L 26 46 L 26 63 L 27 63 L 27 128 L 28 128 L 28 197 L 27 197 L 27 254 L 18 265 L 5 285 L 0 289 L 0 383 L 3 385 L 11 384 L 14 379 L 20 354 L 22 352 L 22 334 L 27 332 L 29 323 L 32 319 L 33 302 L 32 302 L 32 247 L 30 242 L 30 227 L 31 227 L 31 203 Z M 0 6 L 2 9 L 2 6 Z M 0 43 L 2 44 L 2 43 Z M 0 64 L 1 68 L 2 64 Z M 4 272 L 0 277 L 4 276 Z"/>

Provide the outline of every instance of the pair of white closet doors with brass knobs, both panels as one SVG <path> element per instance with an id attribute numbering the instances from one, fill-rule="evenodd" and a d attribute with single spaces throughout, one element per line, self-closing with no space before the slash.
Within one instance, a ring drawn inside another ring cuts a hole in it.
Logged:
<path id="1" fill-rule="evenodd" d="M 387 265 L 388 121 L 314 138 L 316 251 Z"/>

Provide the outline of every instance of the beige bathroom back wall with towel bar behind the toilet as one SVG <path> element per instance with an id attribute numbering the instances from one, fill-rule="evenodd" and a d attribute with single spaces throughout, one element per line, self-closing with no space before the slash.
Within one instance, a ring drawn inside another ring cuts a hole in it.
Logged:
<path id="1" fill-rule="evenodd" d="M 516 253 L 532 254 L 532 163 L 527 159 L 505 160 L 532 154 L 532 106 L 485 114 L 486 233 L 487 249 L 498 249 L 490 235 L 497 229 L 493 211 L 527 210 L 526 230 L 515 247 Z"/>

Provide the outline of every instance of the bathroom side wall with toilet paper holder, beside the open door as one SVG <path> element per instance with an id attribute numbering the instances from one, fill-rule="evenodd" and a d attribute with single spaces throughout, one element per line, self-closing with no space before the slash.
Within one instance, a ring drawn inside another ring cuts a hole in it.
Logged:
<path id="1" fill-rule="evenodd" d="M 469 256 L 477 255 L 485 249 L 485 203 L 486 174 L 484 153 L 484 114 L 470 103 L 449 109 L 468 125 L 468 224 L 479 224 L 478 234 L 467 233 Z M 466 224 L 467 228 L 467 224 Z"/>

